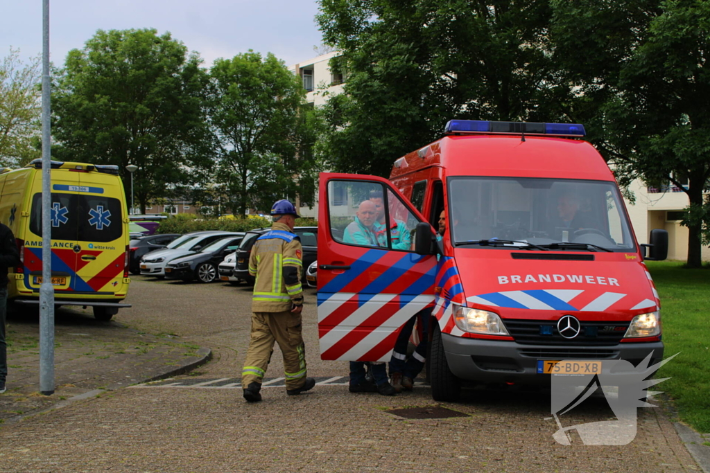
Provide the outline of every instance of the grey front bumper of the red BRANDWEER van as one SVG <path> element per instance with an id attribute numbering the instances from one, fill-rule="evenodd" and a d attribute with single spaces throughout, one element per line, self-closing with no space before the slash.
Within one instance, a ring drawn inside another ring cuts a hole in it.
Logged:
<path id="1" fill-rule="evenodd" d="M 616 345 L 523 345 L 500 340 L 454 337 L 442 333 L 449 369 L 461 379 L 481 383 L 550 385 L 537 373 L 537 360 L 627 360 L 637 366 L 649 352 L 650 364 L 663 359 L 663 343 Z"/>

